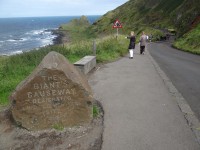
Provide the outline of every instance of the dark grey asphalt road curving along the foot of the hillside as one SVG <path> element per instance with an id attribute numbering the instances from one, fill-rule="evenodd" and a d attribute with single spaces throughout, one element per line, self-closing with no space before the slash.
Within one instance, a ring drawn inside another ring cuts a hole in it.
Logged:
<path id="1" fill-rule="evenodd" d="M 200 56 L 176 50 L 168 42 L 150 43 L 148 50 L 200 120 Z"/>

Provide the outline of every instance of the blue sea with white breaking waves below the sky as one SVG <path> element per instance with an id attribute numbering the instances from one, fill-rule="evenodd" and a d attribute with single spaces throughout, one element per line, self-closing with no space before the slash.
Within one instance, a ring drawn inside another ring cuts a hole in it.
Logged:
<path id="1" fill-rule="evenodd" d="M 0 55 L 14 55 L 54 44 L 52 30 L 81 16 L 0 18 Z M 92 24 L 100 16 L 87 16 Z"/>

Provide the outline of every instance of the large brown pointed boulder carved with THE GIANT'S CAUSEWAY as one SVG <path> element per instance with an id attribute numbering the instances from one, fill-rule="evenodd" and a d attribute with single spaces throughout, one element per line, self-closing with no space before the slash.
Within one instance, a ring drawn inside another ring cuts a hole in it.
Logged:
<path id="1" fill-rule="evenodd" d="M 78 126 L 92 119 L 86 78 L 56 52 L 45 56 L 10 99 L 13 119 L 28 130 Z"/>

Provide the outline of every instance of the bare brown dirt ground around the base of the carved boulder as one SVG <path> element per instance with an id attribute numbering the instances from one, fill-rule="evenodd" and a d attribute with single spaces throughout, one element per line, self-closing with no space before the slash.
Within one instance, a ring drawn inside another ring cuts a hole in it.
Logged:
<path id="1" fill-rule="evenodd" d="M 96 104 L 97 103 L 97 104 Z M 0 150 L 101 150 L 103 110 L 89 125 L 27 131 L 12 124 L 8 108 L 0 111 Z"/>

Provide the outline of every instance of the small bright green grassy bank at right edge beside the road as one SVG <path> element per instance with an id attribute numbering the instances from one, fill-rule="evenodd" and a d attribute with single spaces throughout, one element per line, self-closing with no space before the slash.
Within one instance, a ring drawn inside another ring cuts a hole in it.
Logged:
<path id="1" fill-rule="evenodd" d="M 197 28 L 191 30 L 190 32 L 186 33 L 182 38 L 178 39 L 173 46 L 180 50 L 200 55 L 199 39 L 200 24 L 197 26 Z"/>

